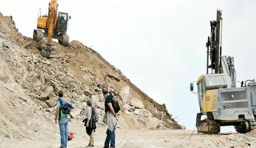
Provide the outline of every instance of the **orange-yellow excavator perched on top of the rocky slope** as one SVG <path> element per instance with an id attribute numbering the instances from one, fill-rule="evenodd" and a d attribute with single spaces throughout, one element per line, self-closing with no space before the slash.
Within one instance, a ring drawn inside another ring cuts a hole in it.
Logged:
<path id="1" fill-rule="evenodd" d="M 41 55 L 46 58 L 51 58 L 55 54 L 55 46 L 52 44 L 52 39 L 57 39 L 63 46 L 69 45 L 69 37 L 66 34 L 68 30 L 68 16 L 66 12 L 58 12 L 57 0 L 51 0 L 49 3 L 48 15 L 41 15 L 41 8 L 38 10 L 37 29 L 33 32 L 33 39 L 37 42 L 43 38 L 47 38 L 47 43 L 41 45 Z M 39 15 L 40 14 L 40 15 Z M 44 30 L 44 32 L 42 30 Z"/>

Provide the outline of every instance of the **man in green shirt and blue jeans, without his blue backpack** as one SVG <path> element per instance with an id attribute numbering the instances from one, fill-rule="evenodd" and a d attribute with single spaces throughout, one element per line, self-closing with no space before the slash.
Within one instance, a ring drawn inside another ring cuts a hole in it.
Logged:
<path id="1" fill-rule="evenodd" d="M 60 148 L 67 148 L 68 143 L 68 114 L 64 113 L 61 106 L 68 103 L 67 99 L 63 99 L 63 92 L 59 91 L 59 99 L 57 100 L 57 109 L 55 112 L 55 124 L 59 121 L 60 128 Z"/>

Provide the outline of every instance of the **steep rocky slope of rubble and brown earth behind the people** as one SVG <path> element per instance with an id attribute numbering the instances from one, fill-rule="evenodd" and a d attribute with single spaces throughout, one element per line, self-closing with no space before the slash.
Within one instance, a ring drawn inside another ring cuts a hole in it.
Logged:
<path id="1" fill-rule="evenodd" d="M 112 92 L 122 108 L 118 128 L 181 129 L 166 108 L 93 49 L 78 41 L 72 41 L 68 47 L 54 42 L 56 55 L 46 59 L 37 49 L 39 44 L 20 34 L 12 17 L 0 13 L 0 138 L 10 142 L 17 138 L 58 136 L 53 115 L 60 89 L 76 107 L 70 122 L 79 124 L 83 120 L 87 99 L 92 99 L 102 116 L 105 73 L 109 73 Z M 100 121 L 98 126 L 105 125 Z"/>

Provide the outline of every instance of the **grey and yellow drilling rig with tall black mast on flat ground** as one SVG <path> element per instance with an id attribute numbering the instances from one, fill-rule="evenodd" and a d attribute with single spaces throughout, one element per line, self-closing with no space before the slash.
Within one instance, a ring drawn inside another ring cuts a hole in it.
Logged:
<path id="1" fill-rule="evenodd" d="M 216 21 L 210 21 L 206 74 L 190 84 L 190 91 L 197 85 L 200 112 L 196 115 L 198 132 L 216 134 L 220 126 L 234 126 L 239 133 L 256 129 L 256 82 L 247 79 L 236 87 L 234 58 L 221 56 L 222 11 L 217 10 Z M 209 71 L 208 69 L 211 69 Z M 248 83 L 249 82 L 249 83 Z M 206 118 L 201 120 L 201 116 Z"/>

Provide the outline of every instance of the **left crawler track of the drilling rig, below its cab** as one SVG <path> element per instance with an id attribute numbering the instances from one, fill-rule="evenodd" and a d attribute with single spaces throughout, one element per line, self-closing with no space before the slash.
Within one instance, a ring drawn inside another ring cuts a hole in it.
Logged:
<path id="1" fill-rule="evenodd" d="M 197 132 L 205 134 L 218 134 L 220 132 L 220 123 L 213 119 L 204 119 L 197 127 Z"/>

